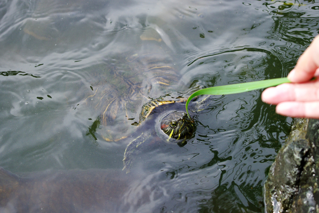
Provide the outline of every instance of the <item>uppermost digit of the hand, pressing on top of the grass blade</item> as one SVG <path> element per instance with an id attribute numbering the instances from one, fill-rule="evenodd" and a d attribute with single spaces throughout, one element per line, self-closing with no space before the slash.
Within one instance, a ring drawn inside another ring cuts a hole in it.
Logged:
<path id="1" fill-rule="evenodd" d="M 291 82 L 309 81 L 319 67 L 319 36 L 317 35 L 310 46 L 302 53 L 295 68 L 289 73 Z"/>

